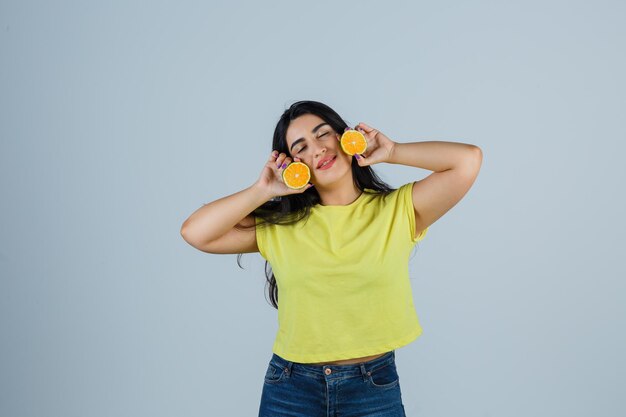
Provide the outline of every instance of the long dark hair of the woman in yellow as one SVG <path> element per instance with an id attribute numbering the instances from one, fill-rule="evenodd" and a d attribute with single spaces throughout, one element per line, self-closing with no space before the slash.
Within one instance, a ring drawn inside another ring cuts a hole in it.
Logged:
<path id="1" fill-rule="evenodd" d="M 336 111 L 331 109 L 326 104 L 318 101 L 303 100 L 293 103 L 285 112 L 280 116 L 276 129 L 274 129 L 274 139 L 272 141 L 272 149 L 277 150 L 279 153 L 284 152 L 289 155 L 289 149 L 287 148 L 287 128 L 292 120 L 302 116 L 304 114 L 314 114 L 328 123 L 335 132 L 339 134 L 343 133 L 348 124 L 337 114 Z M 271 151 L 270 150 L 270 151 Z M 352 178 L 354 179 L 354 185 L 361 191 L 365 188 L 375 190 L 382 194 L 388 194 L 395 189 L 381 180 L 374 170 L 369 166 L 359 166 L 356 159 L 352 159 Z M 252 211 L 253 216 L 259 217 L 262 221 L 256 225 L 256 227 L 264 227 L 267 223 L 271 224 L 293 224 L 300 220 L 306 219 L 311 213 L 311 207 L 320 202 L 320 196 L 315 189 L 311 187 L 301 194 L 290 194 L 282 197 L 271 199 L 261 206 Z M 239 230 L 249 229 L 252 226 L 240 226 L 235 225 L 235 228 Z M 237 255 L 237 264 L 242 268 L 240 259 L 243 254 Z M 265 261 L 265 278 L 267 284 L 269 284 L 269 297 L 270 303 L 274 308 L 278 309 L 278 287 L 276 285 L 276 278 L 272 272 L 272 267 L 268 261 Z"/>

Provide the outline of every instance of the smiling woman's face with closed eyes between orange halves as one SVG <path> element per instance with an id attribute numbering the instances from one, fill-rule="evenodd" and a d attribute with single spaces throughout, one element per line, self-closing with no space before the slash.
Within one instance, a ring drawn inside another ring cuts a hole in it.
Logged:
<path id="1" fill-rule="evenodd" d="M 351 173 L 352 156 L 339 144 L 340 135 L 314 114 L 305 114 L 291 121 L 287 128 L 287 148 L 291 158 L 300 158 L 311 170 L 311 181 L 331 183 Z M 328 157 L 335 160 L 325 167 L 318 164 Z"/>

